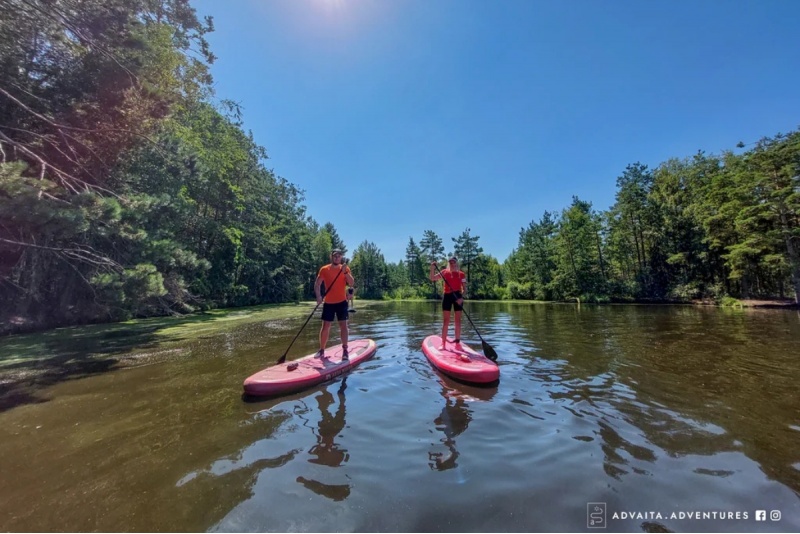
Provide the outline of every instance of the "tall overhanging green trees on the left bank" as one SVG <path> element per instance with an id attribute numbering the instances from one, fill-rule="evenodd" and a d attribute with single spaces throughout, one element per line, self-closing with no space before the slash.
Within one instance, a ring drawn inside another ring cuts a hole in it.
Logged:
<path id="1" fill-rule="evenodd" d="M 300 298 L 321 264 L 318 227 L 263 166 L 238 107 L 206 102 L 211 21 L 183 0 L 8 1 L 0 148 L 16 159 L 0 167 L 0 320 Z"/>

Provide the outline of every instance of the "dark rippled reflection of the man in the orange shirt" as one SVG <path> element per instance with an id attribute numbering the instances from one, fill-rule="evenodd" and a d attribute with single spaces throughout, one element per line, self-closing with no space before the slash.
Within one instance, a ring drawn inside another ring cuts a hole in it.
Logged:
<path id="1" fill-rule="evenodd" d="M 317 438 L 316 445 L 309 450 L 309 454 L 313 458 L 308 461 L 312 464 L 339 467 L 350 459 L 347 449 L 341 448 L 341 445 L 336 442 L 336 437 L 345 425 L 345 389 L 347 389 L 347 377 L 342 379 L 342 384 L 336 392 L 339 403 L 336 406 L 336 413 L 333 415 L 331 415 L 330 407 L 334 403 L 334 398 L 330 391 L 324 389 L 316 396 L 320 419 L 317 428 L 312 428 L 312 432 Z M 349 484 L 326 484 L 303 476 L 297 477 L 297 482 L 317 495 L 334 501 L 343 501 L 350 495 Z"/>

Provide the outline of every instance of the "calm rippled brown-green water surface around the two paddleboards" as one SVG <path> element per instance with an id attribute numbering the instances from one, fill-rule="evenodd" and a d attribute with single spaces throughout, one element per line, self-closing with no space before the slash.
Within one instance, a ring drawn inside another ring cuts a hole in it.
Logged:
<path id="1" fill-rule="evenodd" d="M 796 311 L 469 310 L 495 387 L 431 368 L 429 302 L 361 308 L 351 336 L 375 357 L 288 397 L 247 402 L 242 381 L 305 317 L 20 393 L 0 408 L 0 530 L 597 532 L 588 503 L 607 531 L 800 530 Z"/>

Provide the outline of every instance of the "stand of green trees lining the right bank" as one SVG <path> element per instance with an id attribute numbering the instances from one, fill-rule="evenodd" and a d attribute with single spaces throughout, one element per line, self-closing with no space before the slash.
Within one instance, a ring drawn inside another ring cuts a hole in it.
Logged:
<path id="1" fill-rule="evenodd" d="M 574 198 L 559 219 L 545 213 L 523 229 L 503 266 L 507 287 L 583 301 L 783 296 L 793 287 L 800 299 L 800 132 L 652 172 L 629 165 L 617 187 L 605 213 Z"/>

